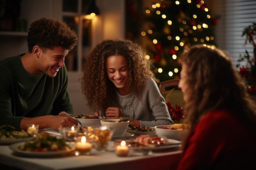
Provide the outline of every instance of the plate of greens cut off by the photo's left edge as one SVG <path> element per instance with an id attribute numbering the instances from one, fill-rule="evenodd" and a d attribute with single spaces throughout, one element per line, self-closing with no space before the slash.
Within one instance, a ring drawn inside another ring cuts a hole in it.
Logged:
<path id="1" fill-rule="evenodd" d="M 17 130 L 10 125 L 0 126 L 0 144 L 14 144 L 35 139 L 24 130 Z"/>

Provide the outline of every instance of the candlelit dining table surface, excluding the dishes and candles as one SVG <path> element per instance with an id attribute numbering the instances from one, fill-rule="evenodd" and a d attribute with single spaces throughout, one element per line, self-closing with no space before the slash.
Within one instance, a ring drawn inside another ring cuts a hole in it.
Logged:
<path id="1" fill-rule="evenodd" d="M 49 132 L 60 137 L 58 131 L 46 128 L 40 131 Z M 136 138 L 138 135 L 131 135 Z M 114 141 L 110 141 L 114 142 Z M 175 170 L 182 157 L 180 145 L 153 150 L 130 150 L 126 157 L 119 157 L 115 150 L 96 150 L 90 155 L 76 155 L 70 152 L 65 155 L 20 155 L 10 149 L 13 144 L 0 144 L 0 168 L 2 170 Z"/>

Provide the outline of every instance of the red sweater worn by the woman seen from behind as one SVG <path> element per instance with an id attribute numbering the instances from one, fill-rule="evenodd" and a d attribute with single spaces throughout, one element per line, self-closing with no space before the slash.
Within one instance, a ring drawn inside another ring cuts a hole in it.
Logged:
<path id="1" fill-rule="evenodd" d="M 184 154 L 177 168 L 249 169 L 256 170 L 256 142 L 227 110 L 210 112 L 200 119 L 186 141 Z"/>

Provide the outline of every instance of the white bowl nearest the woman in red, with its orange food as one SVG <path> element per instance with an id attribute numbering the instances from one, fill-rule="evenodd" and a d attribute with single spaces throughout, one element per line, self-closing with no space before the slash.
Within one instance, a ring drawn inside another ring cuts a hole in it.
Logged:
<path id="1" fill-rule="evenodd" d="M 158 137 L 167 137 L 168 139 L 180 141 L 182 130 L 187 128 L 185 124 L 159 125 L 155 126 L 155 133 Z"/>

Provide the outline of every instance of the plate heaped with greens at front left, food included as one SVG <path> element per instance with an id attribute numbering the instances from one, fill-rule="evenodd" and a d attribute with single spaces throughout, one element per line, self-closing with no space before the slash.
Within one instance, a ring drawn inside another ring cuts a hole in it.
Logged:
<path id="1" fill-rule="evenodd" d="M 18 155 L 28 157 L 63 156 L 74 151 L 72 143 L 66 143 L 64 138 L 57 139 L 47 132 L 41 132 L 32 141 L 12 144 L 9 148 Z"/>

